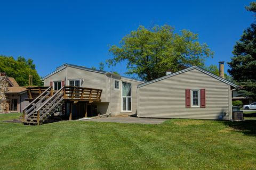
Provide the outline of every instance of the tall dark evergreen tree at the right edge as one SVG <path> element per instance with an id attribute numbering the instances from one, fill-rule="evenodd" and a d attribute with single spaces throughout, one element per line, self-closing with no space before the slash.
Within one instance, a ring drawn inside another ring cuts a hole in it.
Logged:
<path id="1" fill-rule="evenodd" d="M 256 2 L 252 2 L 246 9 L 255 13 Z M 233 54 L 228 63 L 231 68 L 228 72 L 242 87 L 240 92 L 256 99 L 256 24 L 252 23 L 244 30 L 241 39 L 234 46 Z"/>

